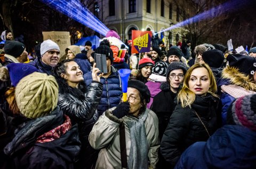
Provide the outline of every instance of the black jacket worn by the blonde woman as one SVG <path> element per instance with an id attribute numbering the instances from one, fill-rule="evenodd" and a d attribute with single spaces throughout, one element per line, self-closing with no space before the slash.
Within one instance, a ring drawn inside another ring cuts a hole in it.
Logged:
<path id="1" fill-rule="evenodd" d="M 178 162 L 180 155 L 191 144 L 206 141 L 209 135 L 217 130 L 216 107 L 218 99 L 207 93 L 206 96 L 196 95 L 196 100 L 189 107 L 182 108 L 179 103 L 171 115 L 169 124 L 161 142 L 161 153 L 172 167 Z M 197 115 L 201 118 L 201 123 Z"/>

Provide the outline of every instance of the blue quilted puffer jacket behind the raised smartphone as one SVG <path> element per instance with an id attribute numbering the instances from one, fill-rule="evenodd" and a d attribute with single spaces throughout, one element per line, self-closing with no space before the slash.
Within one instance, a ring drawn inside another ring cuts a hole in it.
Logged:
<path id="1" fill-rule="evenodd" d="M 113 66 L 111 66 L 111 71 L 112 73 L 108 78 L 100 78 L 100 82 L 103 84 L 102 96 L 97 109 L 100 116 L 104 111 L 117 106 L 121 100 L 121 78 L 118 71 Z M 83 77 L 86 86 L 89 86 L 92 82 L 92 71 L 89 71 L 89 73 L 86 73 Z"/>

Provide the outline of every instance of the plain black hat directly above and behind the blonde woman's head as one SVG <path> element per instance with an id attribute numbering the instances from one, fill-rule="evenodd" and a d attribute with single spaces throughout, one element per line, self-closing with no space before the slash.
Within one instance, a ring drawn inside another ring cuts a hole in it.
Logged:
<path id="1" fill-rule="evenodd" d="M 220 50 L 212 49 L 209 51 L 205 51 L 202 54 L 202 59 L 211 68 L 220 68 L 224 61 L 224 53 Z"/>

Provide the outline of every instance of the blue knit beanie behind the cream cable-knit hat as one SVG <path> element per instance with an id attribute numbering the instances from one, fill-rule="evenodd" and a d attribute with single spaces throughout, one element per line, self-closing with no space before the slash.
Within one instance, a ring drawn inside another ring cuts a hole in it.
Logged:
<path id="1" fill-rule="evenodd" d="M 12 86 L 16 87 L 20 80 L 35 71 L 37 68 L 28 63 L 10 63 L 7 66 Z"/>

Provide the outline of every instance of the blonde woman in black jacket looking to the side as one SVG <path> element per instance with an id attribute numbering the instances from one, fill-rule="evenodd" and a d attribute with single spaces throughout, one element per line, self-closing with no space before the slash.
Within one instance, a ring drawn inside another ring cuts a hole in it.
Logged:
<path id="1" fill-rule="evenodd" d="M 178 105 L 161 142 L 161 154 L 172 168 L 191 144 L 206 141 L 217 129 L 217 85 L 210 67 L 196 63 L 185 75 Z"/>

